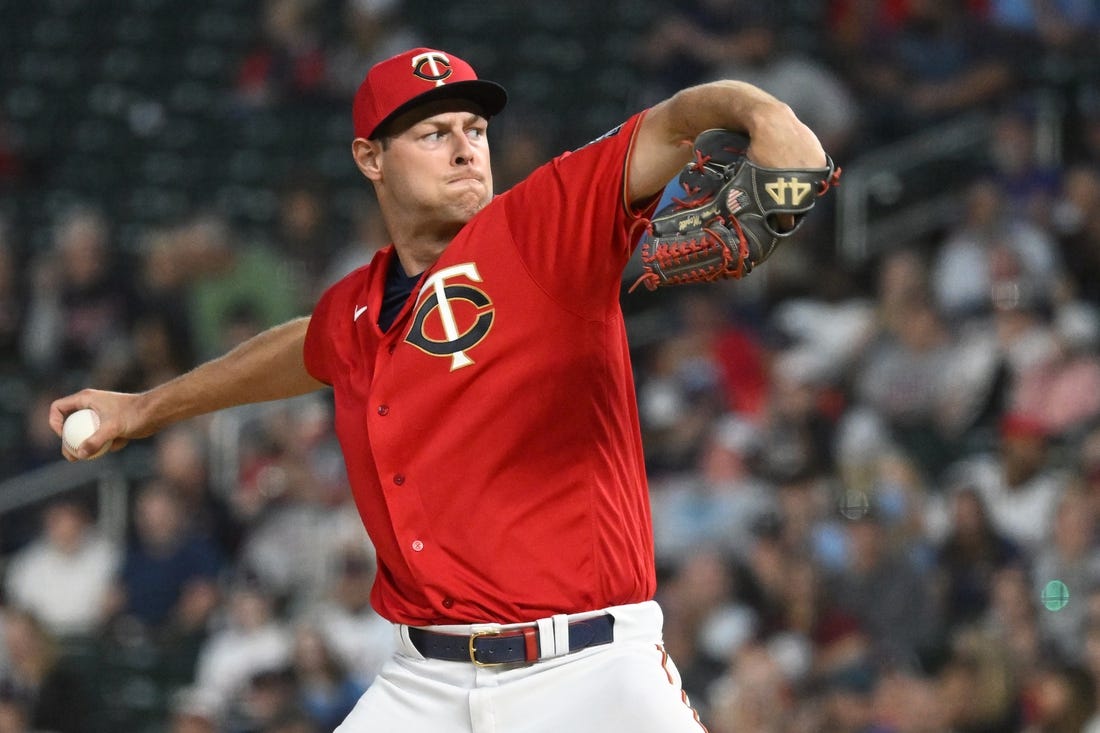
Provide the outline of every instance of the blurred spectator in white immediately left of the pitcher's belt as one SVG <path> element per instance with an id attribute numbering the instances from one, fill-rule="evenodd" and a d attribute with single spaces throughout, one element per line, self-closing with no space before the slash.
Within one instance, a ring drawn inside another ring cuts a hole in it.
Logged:
<path id="1" fill-rule="evenodd" d="M 334 566 L 328 595 L 301 617 L 320 630 L 341 665 L 365 687 L 394 649 L 393 624 L 371 608 L 375 562 L 370 547 L 345 547 Z"/>

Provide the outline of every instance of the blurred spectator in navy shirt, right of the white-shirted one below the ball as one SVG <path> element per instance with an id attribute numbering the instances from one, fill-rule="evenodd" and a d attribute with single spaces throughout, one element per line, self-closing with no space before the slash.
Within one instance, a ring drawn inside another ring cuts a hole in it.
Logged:
<path id="1" fill-rule="evenodd" d="M 201 633 L 219 600 L 213 539 L 195 532 L 179 495 L 157 479 L 140 489 L 133 527 L 110 606 L 153 634 Z"/>

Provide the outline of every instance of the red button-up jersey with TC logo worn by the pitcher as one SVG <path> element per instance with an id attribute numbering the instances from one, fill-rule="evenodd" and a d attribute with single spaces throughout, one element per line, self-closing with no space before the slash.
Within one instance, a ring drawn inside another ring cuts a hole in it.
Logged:
<path id="1" fill-rule="evenodd" d="M 640 119 L 496 196 L 386 332 L 392 245 L 315 309 L 306 366 L 334 391 L 384 617 L 513 623 L 652 597 L 619 307 Z"/>

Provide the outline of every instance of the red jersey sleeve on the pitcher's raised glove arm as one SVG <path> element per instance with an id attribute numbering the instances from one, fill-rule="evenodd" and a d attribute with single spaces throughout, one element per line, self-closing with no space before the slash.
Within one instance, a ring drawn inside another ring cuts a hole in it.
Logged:
<path id="1" fill-rule="evenodd" d="M 573 308 L 617 303 L 623 271 L 642 234 L 626 176 L 645 112 L 540 166 L 502 194 L 513 241 L 532 278 Z"/>

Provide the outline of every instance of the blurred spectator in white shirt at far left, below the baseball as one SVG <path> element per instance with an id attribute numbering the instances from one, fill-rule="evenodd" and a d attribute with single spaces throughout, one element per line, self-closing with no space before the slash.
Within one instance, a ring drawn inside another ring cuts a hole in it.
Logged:
<path id="1" fill-rule="evenodd" d="M 81 501 L 56 500 L 43 511 L 38 537 L 12 556 L 6 597 L 53 636 L 90 636 L 105 621 L 119 556 Z"/>

